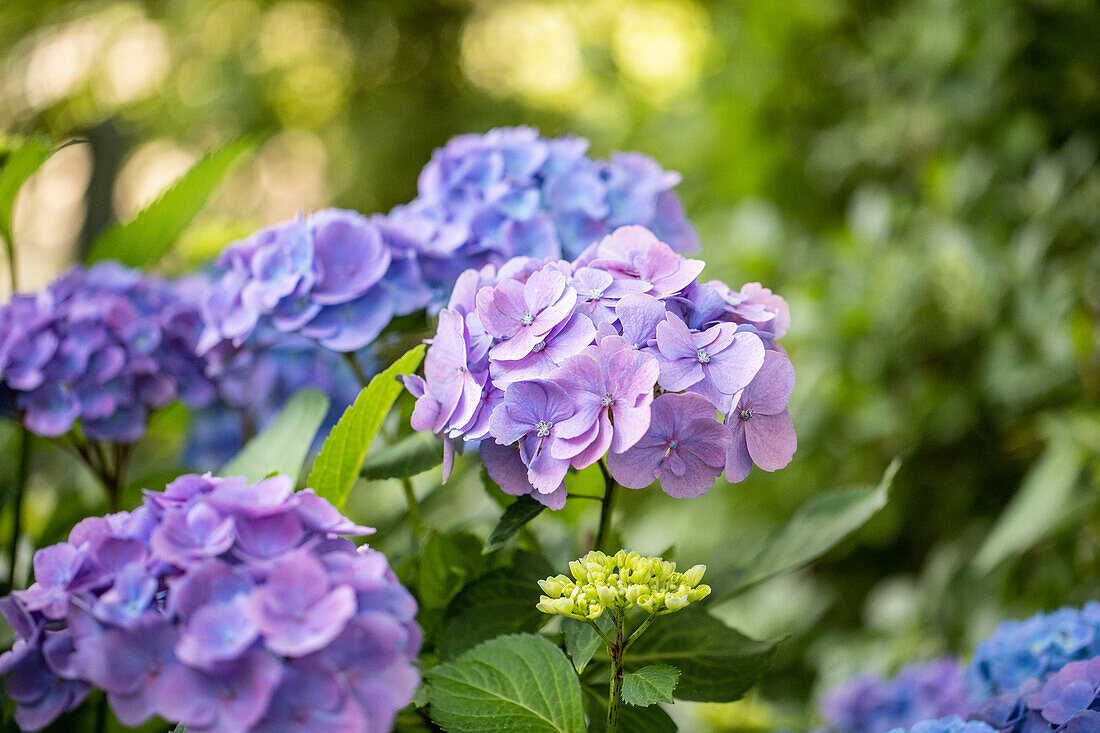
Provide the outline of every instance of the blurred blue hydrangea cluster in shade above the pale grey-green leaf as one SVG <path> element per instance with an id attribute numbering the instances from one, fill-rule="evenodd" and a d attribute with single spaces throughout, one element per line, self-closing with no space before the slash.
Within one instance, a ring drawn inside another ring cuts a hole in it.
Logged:
<path id="1" fill-rule="evenodd" d="M 364 373 L 375 371 L 369 349 L 355 354 Z M 212 354 L 208 354 L 212 355 Z M 359 379 L 340 354 L 310 339 L 261 326 L 242 349 L 211 358 L 208 371 L 218 389 L 215 404 L 191 413 L 184 460 L 200 470 L 224 466 L 244 442 L 267 427 L 300 390 L 329 397 L 318 440 L 355 401 Z"/>

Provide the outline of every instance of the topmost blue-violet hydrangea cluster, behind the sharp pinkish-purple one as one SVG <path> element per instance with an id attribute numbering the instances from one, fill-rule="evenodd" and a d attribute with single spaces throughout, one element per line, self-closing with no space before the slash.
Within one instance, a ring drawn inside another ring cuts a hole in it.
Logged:
<path id="1" fill-rule="evenodd" d="M 419 263 L 447 297 L 468 269 L 514 256 L 573 259 L 618 227 L 651 229 L 678 252 L 698 238 L 672 188 L 680 175 L 641 153 L 596 161 L 581 138 L 548 139 L 532 128 L 466 134 L 438 149 L 418 194 L 391 217 L 422 227 Z"/>

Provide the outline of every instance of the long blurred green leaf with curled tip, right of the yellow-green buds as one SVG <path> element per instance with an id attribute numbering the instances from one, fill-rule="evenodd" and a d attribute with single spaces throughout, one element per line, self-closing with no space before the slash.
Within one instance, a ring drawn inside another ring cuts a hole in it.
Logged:
<path id="1" fill-rule="evenodd" d="M 735 571 L 728 581 L 711 581 L 718 589 L 716 598 L 727 599 L 796 570 L 838 545 L 886 506 L 890 483 L 900 464 L 897 459 L 890 463 L 873 489 L 831 491 L 800 506 L 787 524 L 768 537 L 744 569 Z"/>

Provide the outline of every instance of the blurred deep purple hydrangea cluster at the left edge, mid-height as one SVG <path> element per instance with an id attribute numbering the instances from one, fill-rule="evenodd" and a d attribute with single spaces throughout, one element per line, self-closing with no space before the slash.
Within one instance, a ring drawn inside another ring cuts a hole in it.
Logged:
<path id="1" fill-rule="evenodd" d="M 209 404 L 193 285 L 103 262 L 14 296 L 0 307 L 0 404 L 36 435 L 79 422 L 116 444 L 141 438 L 148 413 L 174 400 Z"/>

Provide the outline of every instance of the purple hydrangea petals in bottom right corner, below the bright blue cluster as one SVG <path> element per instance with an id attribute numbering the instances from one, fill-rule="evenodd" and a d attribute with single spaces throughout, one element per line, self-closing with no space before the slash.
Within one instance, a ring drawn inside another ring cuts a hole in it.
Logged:
<path id="1" fill-rule="evenodd" d="M 1100 657 L 1071 661 L 1045 681 L 991 698 L 971 713 L 1002 733 L 1100 731 Z"/>

